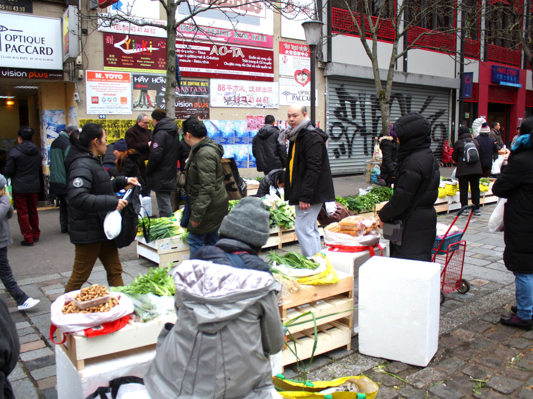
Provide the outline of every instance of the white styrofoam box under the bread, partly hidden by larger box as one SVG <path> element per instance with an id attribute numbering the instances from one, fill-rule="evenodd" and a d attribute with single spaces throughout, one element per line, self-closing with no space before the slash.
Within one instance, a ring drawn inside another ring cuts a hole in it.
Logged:
<path id="1" fill-rule="evenodd" d="M 382 244 L 383 250 L 375 249 L 375 256 L 385 255 L 387 246 Z M 335 252 L 330 250 L 322 251 L 329 259 L 333 268 L 338 272 L 344 272 L 353 276 L 353 333 L 359 333 L 359 267 L 370 259 L 370 251 L 361 252 Z"/>

